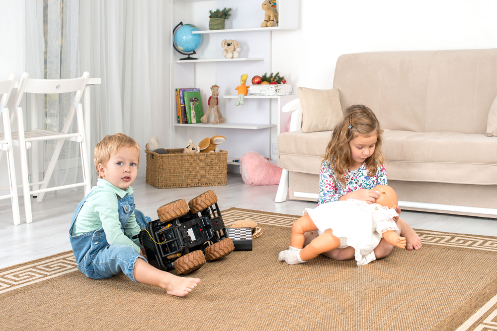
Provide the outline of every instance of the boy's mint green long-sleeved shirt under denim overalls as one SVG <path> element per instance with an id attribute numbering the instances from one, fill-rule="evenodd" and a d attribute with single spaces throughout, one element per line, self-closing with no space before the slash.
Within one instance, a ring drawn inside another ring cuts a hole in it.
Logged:
<path id="1" fill-rule="evenodd" d="M 109 245 L 126 245 L 140 252 L 140 241 L 138 239 L 131 239 L 140 230 L 140 227 L 136 223 L 135 211 L 131 212 L 128 223 L 123 228 L 124 233 L 121 230 L 121 222 L 119 221 L 119 201 L 117 196 L 123 198 L 125 195 L 132 193 L 133 188 L 131 186 L 128 187 L 127 191 L 124 191 L 110 184 L 105 179 L 99 178 L 96 189 L 92 190 L 89 197 L 86 198 L 76 217 L 73 226 L 73 236 L 79 236 L 103 228 Z"/>

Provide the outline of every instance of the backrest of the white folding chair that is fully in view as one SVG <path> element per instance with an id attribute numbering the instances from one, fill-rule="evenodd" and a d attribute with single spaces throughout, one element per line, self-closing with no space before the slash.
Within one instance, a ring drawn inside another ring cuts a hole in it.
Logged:
<path id="1" fill-rule="evenodd" d="M 24 72 L 21 76 L 19 89 L 17 90 L 16 99 L 14 101 L 15 107 L 19 107 L 24 93 L 55 94 L 76 91 L 74 101 L 78 103 L 83 95 L 83 90 L 88 81 L 88 77 L 89 73 L 85 71 L 83 76 L 78 78 L 37 79 L 29 78 L 29 74 Z"/>

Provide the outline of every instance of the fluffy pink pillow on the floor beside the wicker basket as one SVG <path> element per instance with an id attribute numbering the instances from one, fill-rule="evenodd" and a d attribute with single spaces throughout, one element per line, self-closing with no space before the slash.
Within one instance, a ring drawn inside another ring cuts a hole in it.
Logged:
<path id="1" fill-rule="evenodd" d="M 245 153 L 240 158 L 240 173 L 248 185 L 278 185 L 282 170 L 257 152 Z"/>

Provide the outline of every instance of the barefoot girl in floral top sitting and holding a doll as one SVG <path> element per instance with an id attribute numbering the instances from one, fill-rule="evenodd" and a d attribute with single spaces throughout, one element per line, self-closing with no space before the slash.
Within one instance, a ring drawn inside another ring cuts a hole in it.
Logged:
<path id="1" fill-rule="evenodd" d="M 376 116 L 366 106 L 353 105 L 347 108 L 343 121 L 336 126 L 326 148 L 321 166 L 318 205 L 325 202 L 357 199 L 373 203 L 379 193 L 372 189 L 376 185 L 387 185 L 387 172 L 381 153 L 383 130 Z M 399 218 L 394 217 L 401 236 L 406 237 L 407 249 L 421 248 L 421 239 L 414 230 Z M 318 235 L 306 233 L 304 245 Z M 377 259 L 390 254 L 393 246 L 384 239 L 374 249 Z M 334 249 L 324 253 L 335 260 L 354 258 L 354 248 Z"/>

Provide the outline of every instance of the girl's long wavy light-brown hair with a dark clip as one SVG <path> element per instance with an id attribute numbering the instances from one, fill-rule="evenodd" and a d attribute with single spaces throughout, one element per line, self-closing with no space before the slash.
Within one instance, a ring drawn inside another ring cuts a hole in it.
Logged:
<path id="1" fill-rule="evenodd" d="M 381 130 L 376 116 L 366 106 L 353 105 L 345 110 L 343 121 L 338 124 L 331 135 L 331 140 L 326 147 L 324 162 L 328 161 L 336 173 L 336 178 L 345 185 L 345 171 L 350 166 L 352 152 L 349 142 L 358 135 L 369 137 L 377 135 L 376 147 L 373 155 L 366 159 L 368 176 L 376 175 L 378 167 L 383 164 L 384 157 L 381 153 Z"/>

